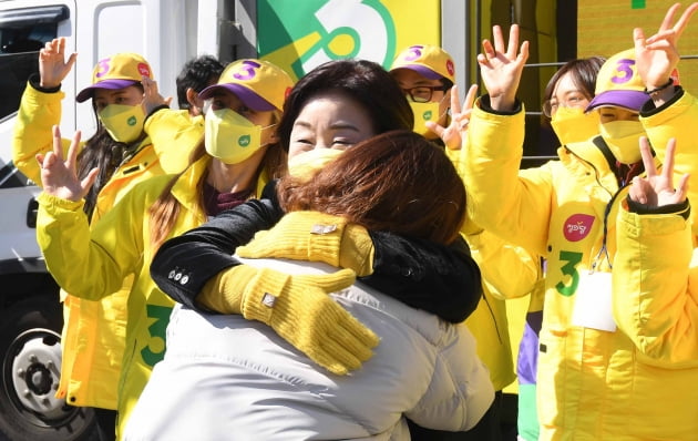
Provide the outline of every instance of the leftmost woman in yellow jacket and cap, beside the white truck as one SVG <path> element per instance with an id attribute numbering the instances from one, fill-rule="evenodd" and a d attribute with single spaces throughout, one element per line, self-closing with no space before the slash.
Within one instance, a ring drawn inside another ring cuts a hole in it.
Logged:
<path id="1" fill-rule="evenodd" d="M 61 121 L 61 82 L 74 64 L 75 54 L 65 60 L 65 39 L 55 39 L 41 50 L 40 75 L 29 80 L 20 103 L 12 140 L 17 167 L 41 185 L 35 155 L 52 148 L 51 127 Z M 148 88 L 150 86 L 150 88 Z M 136 53 L 117 53 L 100 60 L 92 73 L 92 84 L 78 95 L 79 102 L 92 99 L 97 120 L 96 133 L 81 146 L 78 175 L 84 177 L 93 167 L 100 172 L 85 195 L 84 212 L 94 225 L 136 183 L 165 172 L 181 171 L 188 152 L 201 137 L 170 134 L 168 150 L 156 151 L 148 136 L 147 124 L 157 115 L 162 122 L 152 124 L 150 133 L 170 132 L 170 116 L 160 111 L 165 105 L 156 92 L 152 69 Z M 143 105 L 142 105 L 143 103 Z M 148 107 L 145 110 L 144 107 Z M 154 107 L 154 109 L 150 109 Z M 151 112 L 155 111 L 155 113 Z M 161 115 L 163 113 L 163 115 Z M 68 140 L 63 143 L 66 145 Z M 183 153 L 184 152 L 184 153 Z M 166 166 L 168 164 L 170 166 Z M 116 287 L 113 295 L 100 301 L 84 301 L 61 291 L 64 325 L 62 331 L 62 366 L 57 397 L 71 406 L 95 408 L 97 428 L 103 439 L 113 439 L 116 409 L 116 381 L 124 351 L 126 306 L 130 279 Z M 121 288 L 121 289 L 119 289 Z"/>

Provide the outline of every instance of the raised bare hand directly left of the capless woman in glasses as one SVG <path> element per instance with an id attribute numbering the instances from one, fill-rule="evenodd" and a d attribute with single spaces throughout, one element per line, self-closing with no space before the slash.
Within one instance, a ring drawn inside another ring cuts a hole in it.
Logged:
<path id="1" fill-rule="evenodd" d="M 490 105 L 495 111 L 511 111 L 516 102 L 516 90 L 521 73 L 528 59 L 528 42 L 521 43 L 519 50 L 519 25 L 512 24 L 509 31 L 509 47 L 499 25 L 492 28 L 494 45 L 490 40 L 482 41 L 483 53 L 478 54 L 478 64 L 485 89 L 490 94 Z M 519 52 L 519 53 L 517 53 Z"/>

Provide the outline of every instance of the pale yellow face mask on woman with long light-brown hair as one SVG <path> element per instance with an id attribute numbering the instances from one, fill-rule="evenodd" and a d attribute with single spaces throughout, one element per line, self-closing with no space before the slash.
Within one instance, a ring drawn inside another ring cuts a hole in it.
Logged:
<path id="1" fill-rule="evenodd" d="M 230 109 L 209 111 L 204 122 L 206 152 L 226 164 L 239 164 L 264 146 L 263 129 Z"/>

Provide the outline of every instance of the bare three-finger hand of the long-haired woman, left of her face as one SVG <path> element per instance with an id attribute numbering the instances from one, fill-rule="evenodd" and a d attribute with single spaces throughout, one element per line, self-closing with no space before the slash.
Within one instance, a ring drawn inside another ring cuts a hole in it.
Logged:
<path id="1" fill-rule="evenodd" d="M 58 125 L 53 126 L 53 151 L 37 155 L 44 193 L 69 201 L 80 201 L 88 194 L 96 180 L 97 168 L 91 170 L 83 180 L 78 177 L 75 158 L 79 145 L 80 131 L 73 135 L 68 156 L 63 160 L 61 131 Z"/>

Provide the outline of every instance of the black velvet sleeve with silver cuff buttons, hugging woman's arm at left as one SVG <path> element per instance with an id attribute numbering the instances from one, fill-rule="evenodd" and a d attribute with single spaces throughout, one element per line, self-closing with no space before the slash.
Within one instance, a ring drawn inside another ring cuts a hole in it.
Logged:
<path id="1" fill-rule="evenodd" d="M 166 295 L 191 308 L 204 285 L 225 268 L 239 265 L 235 249 L 255 233 L 269 229 L 284 213 L 270 199 L 250 199 L 206 224 L 166 240 L 151 264 L 151 277 Z"/>

